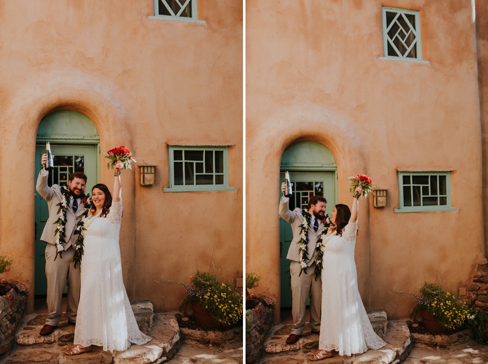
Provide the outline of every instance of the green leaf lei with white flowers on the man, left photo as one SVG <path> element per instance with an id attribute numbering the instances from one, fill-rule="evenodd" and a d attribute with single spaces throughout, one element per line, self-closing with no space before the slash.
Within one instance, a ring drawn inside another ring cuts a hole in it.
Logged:
<path id="1" fill-rule="evenodd" d="M 59 209 L 57 210 L 58 218 L 53 223 L 57 224 L 57 228 L 54 231 L 54 234 L 56 235 L 56 256 L 54 257 L 54 260 L 56 260 L 58 255 L 60 258 L 63 259 L 63 251 L 65 250 L 63 247 L 63 236 L 65 236 L 66 209 L 70 204 L 71 196 L 71 192 L 64 186 L 61 187 L 61 192 L 63 194 L 63 199 L 56 205 L 59 206 Z M 73 259 L 70 260 L 70 262 L 75 263 L 75 269 L 76 266 L 81 263 L 81 257 L 83 255 L 83 234 L 81 232 L 83 230 L 86 230 L 84 228 L 85 219 L 88 217 L 88 213 L 91 207 L 91 200 L 88 196 L 82 195 L 81 200 L 83 202 L 83 207 L 85 208 L 85 210 L 83 211 L 83 214 L 81 214 L 81 219 L 76 224 L 76 229 L 73 232 L 73 234 L 77 235 L 77 237 L 75 240 L 75 246 L 73 247 L 73 249 L 75 250 L 75 254 L 73 256 Z"/>

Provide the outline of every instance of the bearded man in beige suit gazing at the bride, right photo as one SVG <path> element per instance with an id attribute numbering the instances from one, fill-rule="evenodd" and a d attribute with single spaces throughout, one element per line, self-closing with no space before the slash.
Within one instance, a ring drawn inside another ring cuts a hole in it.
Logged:
<path id="1" fill-rule="evenodd" d="M 286 339 L 287 344 L 293 344 L 300 339 L 300 336 L 305 327 L 305 313 L 306 313 L 306 301 L 310 296 L 310 326 L 312 332 L 320 333 L 320 309 L 322 305 L 322 280 L 319 277 L 315 280 L 315 276 L 312 276 L 315 270 L 315 258 L 317 253 L 315 252 L 315 246 L 317 239 L 324 230 L 324 225 L 321 224 L 325 217 L 325 204 L 327 200 L 323 196 L 313 196 L 309 201 L 309 212 L 311 214 L 311 221 L 308 225 L 308 244 L 307 252 L 304 257 L 307 264 L 307 273 L 304 271 L 300 275 L 300 256 L 298 252 L 298 244 L 296 244 L 301 238 L 300 225 L 306 222 L 303 217 L 300 208 L 295 208 L 290 211 L 288 205 L 290 199 L 285 197 L 286 184 L 283 183 L 281 191 L 283 197 L 280 200 L 280 216 L 291 224 L 293 229 L 293 240 L 291 241 L 290 248 L 286 258 L 291 260 L 290 274 L 291 274 L 291 292 L 292 292 L 292 315 L 293 315 L 293 328 L 291 334 Z"/>

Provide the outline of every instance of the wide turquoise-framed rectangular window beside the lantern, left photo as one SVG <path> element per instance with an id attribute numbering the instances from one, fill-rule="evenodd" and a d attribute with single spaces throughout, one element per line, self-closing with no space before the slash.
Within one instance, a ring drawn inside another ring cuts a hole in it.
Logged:
<path id="1" fill-rule="evenodd" d="M 169 146 L 168 192 L 235 191 L 229 187 L 226 146 Z"/>

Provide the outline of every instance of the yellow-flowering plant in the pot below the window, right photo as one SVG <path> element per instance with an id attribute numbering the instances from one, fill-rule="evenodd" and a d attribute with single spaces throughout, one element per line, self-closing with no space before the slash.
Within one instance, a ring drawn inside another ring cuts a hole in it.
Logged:
<path id="1" fill-rule="evenodd" d="M 394 292 L 397 294 L 409 294 L 417 302 L 413 311 L 426 310 L 434 316 L 440 324 L 449 330 L 459 329 L 465 323 L 470 313 L 469 307 L 456 294 L 445 291 L 437 283 L 425 282 L 418 287 L 420 293 Z"/>

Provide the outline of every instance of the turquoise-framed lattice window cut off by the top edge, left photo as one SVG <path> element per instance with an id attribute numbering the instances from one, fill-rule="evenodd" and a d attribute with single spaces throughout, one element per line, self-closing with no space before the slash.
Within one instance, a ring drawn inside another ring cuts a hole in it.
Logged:
<path id="1" fill-rule="evenodd" d="M 198 20 L 197 0 L 154 0 L 154 16 L 149 18 L 205 23 Z"/>

